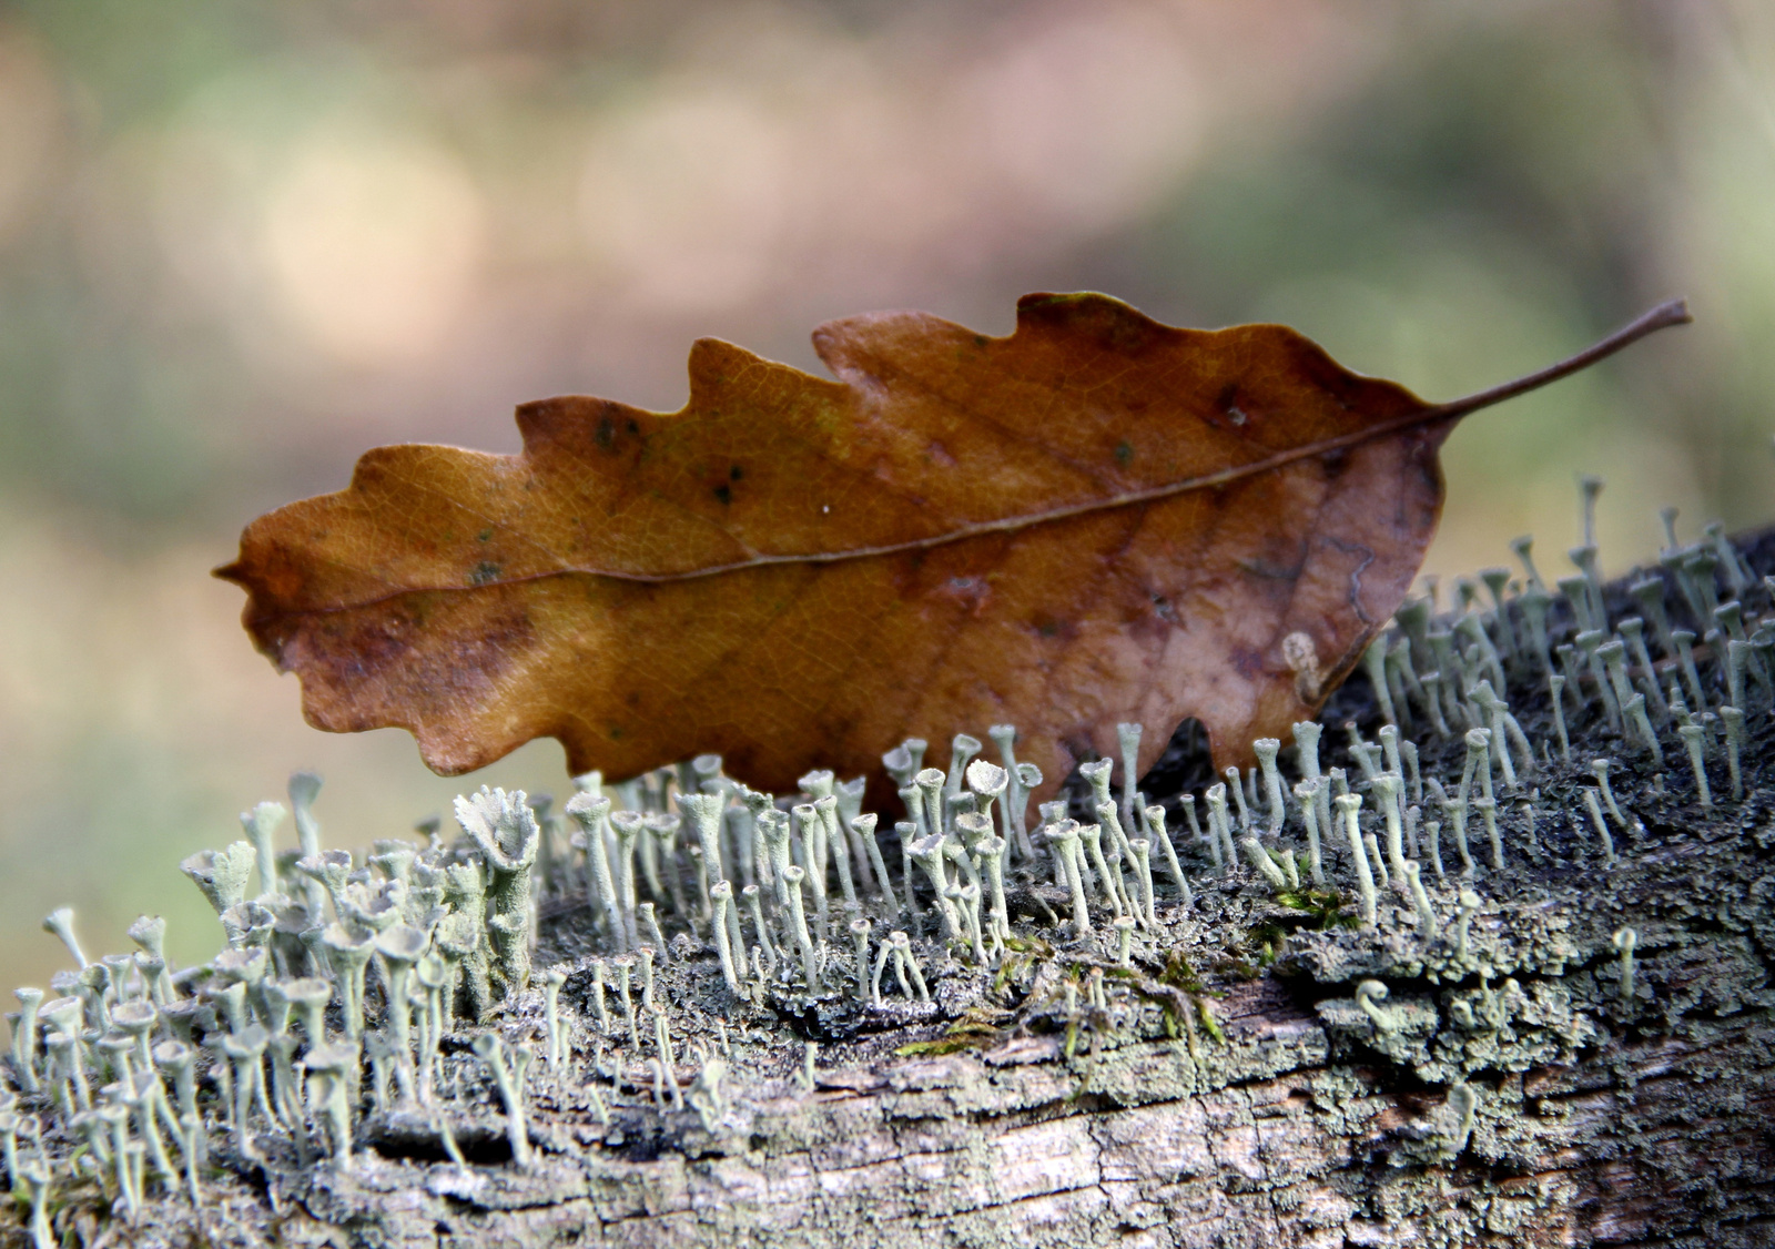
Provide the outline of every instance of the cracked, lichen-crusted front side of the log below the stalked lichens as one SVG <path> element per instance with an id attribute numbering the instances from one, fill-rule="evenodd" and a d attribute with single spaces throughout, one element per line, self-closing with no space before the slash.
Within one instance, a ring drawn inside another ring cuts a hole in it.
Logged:
<path id="1" fill-rule="evenodd" d="M 1415 1043 L 1399 1049 L 1351 1024 L 1349 999 L 1326 997 L 1337 983 L 1266 974 L 1218 1002 L 1225 1045 L 1203 1040 L 1198 1057 L 1179 1038 L 1069 1061 L 1058 1036 L 1026 1036 L 985 1054 L 834 1059 L 811 1093 L 793 1079 L 746 1089 L 715 1132 L 685 1111 L 659 1119 L 657 1134 L 635 1135 L 621 1119 L 612 1134 L 568 1100 L 536 1134 L 545 1160 L 532 1176 L 485 1167 L 465 1183 L 444 1162 L 419 1169 L 371 1150 L 355 1176 L 320 1173 L 282 1194 L 279 1237 L 809 1249 L 1775 1244 L 1775 862 L 1750 832 L 1759 820 L 1747 813 L 1741 836 L 1715 844 L 1647 843 L 1589 891 L 1477 919 L 1475 951 L 1514 967 L 1521 990 L 1502 1034 L 1454 1027 L 1447 1004 L 1473 1001 L 1471 981 L 1438 990 L 1395 978 L 1388 1006 L 1434 1008 L 1436 1036 L 1473 1052 L 1491 1045 L 1505 1066 L 1550 1050 L 1569 1059 L 1473 1072 L 1477 1121 L 1448 1164 L 1422 1162 L 1456 1132 L 1445 1089 L 1415 1075 L 1427 1049 L 1413 1063 Z M 1541 917 L 1532 931 L 1530 912 Z M 1603 953 L 1605 933 L 1628 921 L 1640 931 L 1631 1022 L 1615 1001 L 1619 963 Z M 1408 935 L 1393 946 L 1409 960 L 1415 939 L 1400 926 Z M 1344 953 L 1372 956 L 1354 937 L 1303 940 L 1308 953 L 1285 958 L 1287 970 L 1337 972 Z"/>

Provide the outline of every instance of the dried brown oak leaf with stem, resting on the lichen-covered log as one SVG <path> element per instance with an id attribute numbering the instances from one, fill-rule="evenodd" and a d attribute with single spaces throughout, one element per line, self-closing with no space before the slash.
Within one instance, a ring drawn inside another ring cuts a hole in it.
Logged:
<path id="1" fill-rule="evenodd" d="M 398 445 L 217 570 L 321 729 L 444 774 L 538 736 L 627 777 L 703 750 L 776 791 L 1008 722 L 1051 789 L 1140 720 L 1216 763 L 1314 715 L 1404 596 L 1454 419 L 1278 325 L 1179 330 L 1031 295 L 987 337 L 919 312 L 815 335 L 836 381 L 721 341 L 655 413 L 518 408 L 524 452 Z"/>

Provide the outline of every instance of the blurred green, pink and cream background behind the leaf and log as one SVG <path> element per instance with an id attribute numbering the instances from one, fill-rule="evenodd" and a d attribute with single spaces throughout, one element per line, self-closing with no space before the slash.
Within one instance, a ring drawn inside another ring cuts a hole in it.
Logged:
<path id="1" fill-rule="evenodd" d="M 1771 69 L 1757 0 L 0 7 L 0 979 L 62 901 L 213 949 L 176 862 L 293 766 L 334 844 L 446 809 L 405 734 L 302 724 L 208 570 L 375 444 L 676 408 L 698 335 L 816 367 L 832 316 L 1095 287 L 1450 397 L 1688 295 L 1454 435 L 1429 566 L 1548 566 L 1580 472 L 1612 570 L 1665 502 L 1770 520 Z"/>

